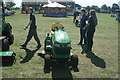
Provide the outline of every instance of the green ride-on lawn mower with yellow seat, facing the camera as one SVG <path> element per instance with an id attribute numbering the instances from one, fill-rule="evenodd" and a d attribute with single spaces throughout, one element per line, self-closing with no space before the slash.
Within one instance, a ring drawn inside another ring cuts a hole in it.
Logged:
<path id="1" fill-rule="evenodd" d="M 63 64 L 71 66 L 73 69 L 78 66 L 78 56 L 73 55 L 71 51 L 71 41 L 65 32 L 61 23 L 55 23 L 51 27 L 51 32 L 46 35 L 44 50 L 45 50 L 45 65 L 44 70 L 50 70 L 52 64 Z"/>

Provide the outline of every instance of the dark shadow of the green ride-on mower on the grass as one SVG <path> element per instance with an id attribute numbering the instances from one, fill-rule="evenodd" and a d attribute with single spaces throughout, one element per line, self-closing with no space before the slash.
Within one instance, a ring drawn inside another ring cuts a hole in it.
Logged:
<path id="1" fill-rule="evenodd" d="M 45 54 L 38 54 L 41 58 L 44 59 Z M 50 70 L 45 73 L 49 73 L 49 71 L 52 72 L 52 80 L 73 80 L 71 68 L 68 65 L 64 65 L 63 63 L 57 64 L 55 62 L 52 62 Z M 76 71 L 76 72 L 79 72 Z"/>

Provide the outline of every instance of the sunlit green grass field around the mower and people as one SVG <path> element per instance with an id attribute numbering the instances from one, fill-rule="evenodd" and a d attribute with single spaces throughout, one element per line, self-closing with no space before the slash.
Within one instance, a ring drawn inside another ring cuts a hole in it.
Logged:
<path id="1" fill-rule="evenodd" d="M 20 49 L 27 37 L 27 31 L 23 30 L 29 22 L 29 15 L 21 14 L 17 11 L 14 16 L 6 17 L 6 21 L 13 26 L 15 42 L 11 50 L 15 51 L 16 63 L 12 67 L 3 67 L 3 78 L 53 78 L 53 77 L 72 77 L 72 78 L 117 78 L 118 77 L 118 22 L 109 14 L 97 14 L 99 24 L 96 27 L 94 36 L 93 52 L 97 59 L 89 59 L 85 54 L 81 54 L 79 42 L 79 28 L 72 23 L 72 16 L 67 18 L 43 17 L 36 14 L 37 32 L 41 40 L 42 47 L 36 49 L 34 38 L 27 46 L 27 50 Z M 54 22 L 61 22 L 65 26 L 72 41 L 72 53 L 79 56 L 79 72 L 74 72 L 66 68 L 54 68 L 51 73 L 44 73 L 44 59 L 38 56 L 38 52 L 43 50 L 46 33 L 50 31 Z M 20 63 L 30 56 L 24 63 Z M 97 65 L 99 63 L 99 65 Z M 104 68 L 101 67 L 104 65 Z"/>

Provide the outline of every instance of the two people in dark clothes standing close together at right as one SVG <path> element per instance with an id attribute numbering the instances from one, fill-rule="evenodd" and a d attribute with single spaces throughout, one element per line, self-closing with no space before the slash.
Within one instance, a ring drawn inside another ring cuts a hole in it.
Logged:
<path id="1" fill-rule="evenodd" d="M 98 23 L 96 12 L 95 10 L 90 10 L 89 12 L 86 12 L 85 9 L 81 9 L 79 13 L 75 12 L 73 22 L 75 21 L 77 16 L 80 16 L 80 41 L 78 45 L 81 45 L 81 47 L 83 48 L 81 52 L 82 54 L 86 53 L 87 55 L 89 55 L 90 53 L 92 53 L 93 37 L 95 33 L 95 28 Z"/>

